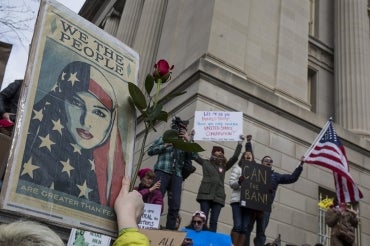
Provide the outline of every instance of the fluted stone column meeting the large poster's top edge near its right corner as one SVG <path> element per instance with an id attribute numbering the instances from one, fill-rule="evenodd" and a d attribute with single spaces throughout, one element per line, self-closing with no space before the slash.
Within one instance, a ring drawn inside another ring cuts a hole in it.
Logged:
<path id="1" fill-rule="evenodd" d="M 132 47 L 139 26 L 144 0 L 126 0 L 117 30 L 117 38 Z"/>

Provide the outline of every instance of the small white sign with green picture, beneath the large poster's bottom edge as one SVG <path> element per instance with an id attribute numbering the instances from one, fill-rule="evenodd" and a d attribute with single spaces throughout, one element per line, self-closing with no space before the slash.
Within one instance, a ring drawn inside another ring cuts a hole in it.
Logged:
<path id="1" fill-rule="evenodd" d="M 72 228 L 67 246 L 109 246 L 110 241 L 106 235 Z"/>

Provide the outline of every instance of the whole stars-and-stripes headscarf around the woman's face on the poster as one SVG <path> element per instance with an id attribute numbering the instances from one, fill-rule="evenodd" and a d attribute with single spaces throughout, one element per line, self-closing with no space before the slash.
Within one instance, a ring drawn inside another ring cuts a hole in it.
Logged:
<path id="1" fill-rule="evenodd" d="M 44 96 L 33 105 L 20 179 L 113 207 L 125 172 L 115 118 L 111 130 L 97 128 L 106 131 L 106 135 L 92 148 L 81 147 L 67 129 L 65 104 L 71 95 L 95 93 L 104 105 L 114 105 L 114 93 L 107 87 L 109 82 L 99 80 L 99 84 L 93 84 L 92 77 L 99 73 L 92 69 L 90 64 L 72 62 L 63 69 L 48 93 L 40 90 Z"/>

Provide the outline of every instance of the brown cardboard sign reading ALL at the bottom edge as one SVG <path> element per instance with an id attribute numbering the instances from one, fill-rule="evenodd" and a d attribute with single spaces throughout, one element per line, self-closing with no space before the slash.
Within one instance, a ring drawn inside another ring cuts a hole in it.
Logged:
<path id="1" fill-rule="evenodd" d="M 178 246 L 184 241 L 185 232 L 140 229 L 149 238 L 150 245 Z"/>

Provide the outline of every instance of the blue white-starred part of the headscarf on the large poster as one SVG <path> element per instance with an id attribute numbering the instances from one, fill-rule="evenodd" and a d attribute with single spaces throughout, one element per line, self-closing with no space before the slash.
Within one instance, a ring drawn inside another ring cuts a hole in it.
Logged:
<path id="1" fill-rule="evenodd" d="M 63 90 L 72 93 L 81 83 L 77 76 L 63 72 L 50 93 L 34 105 L 20 178 L 100 203 L 93 153 L 73 142 L 59 103 Z"/>

